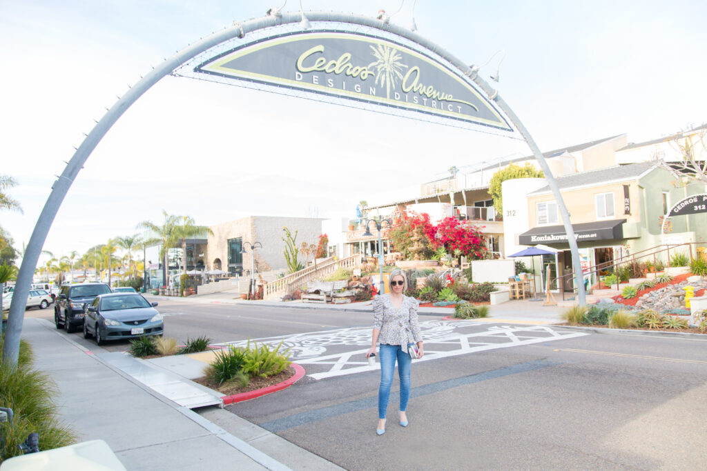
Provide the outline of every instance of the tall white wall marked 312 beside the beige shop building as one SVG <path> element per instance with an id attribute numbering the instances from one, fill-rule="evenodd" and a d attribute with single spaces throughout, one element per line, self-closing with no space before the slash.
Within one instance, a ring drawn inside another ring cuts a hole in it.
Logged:
<path id="1" fill-rule="evenodd" d="M 547 185 L 544 178 L 518 178 L 503 181 L 503 248 L 506 256 L 515 254 L 526 246 L 518 245 L 518 235 L 530 229 L 527 193 Z"/>

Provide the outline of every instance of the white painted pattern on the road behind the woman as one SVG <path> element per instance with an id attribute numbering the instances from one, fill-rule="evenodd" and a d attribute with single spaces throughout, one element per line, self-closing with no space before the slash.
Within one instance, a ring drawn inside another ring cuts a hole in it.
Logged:
<path id="1" fill-rule="evenodd" d="M 588 335 L 556 326 L 489 326 L 475 321 L 426 321 L 420 323 L 420 330 L 425 355 L 414 362 Z M 281 351 L 290 349 L 290 359 L 303 365 L 310 378 L 322 379 L 371 371 L 366 360 L 370 335 L 370 327 L 343 328 L 252 339 L 250 345 L 276 347 L 282 342 Z M 245 347 L 247 340 L 220 345 Z"/>

